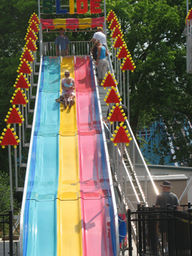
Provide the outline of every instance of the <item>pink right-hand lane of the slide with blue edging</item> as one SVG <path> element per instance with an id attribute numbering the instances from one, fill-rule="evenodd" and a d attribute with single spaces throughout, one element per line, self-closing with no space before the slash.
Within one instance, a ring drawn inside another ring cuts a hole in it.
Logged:
<path id="1" fill-rule="evenodd" d="M 88 56 L 75 58 L 75 87 L 83 255 L 112 256 L 110 182 Z"/>

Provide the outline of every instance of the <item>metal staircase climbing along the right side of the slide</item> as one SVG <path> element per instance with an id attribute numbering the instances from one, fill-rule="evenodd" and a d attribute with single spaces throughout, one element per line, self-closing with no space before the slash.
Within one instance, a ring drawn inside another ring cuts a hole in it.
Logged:
<path id="1" fill-rule="evenodd" d="M 105 90 L 103 87 L 98 87 L 98 90 L 100 94 L 102 117 L 106 120 L 108 106 L 105 103 L 104 99 L 107 90 Z M 137 176 L 137 172 L 134 169 L 134 164 L 132 164 L 128 147 L 125 148 L 124 159 L 120 161 L 121 151 L 117 149 L 117 147 L 114 147 L 112 145 L 112 142 L 110 140 L 110 130 L 108 129 L 106 124 L 105 134 L 110 155 L 110 166 L 112 169 L 114 188 L 117 192 L 116 200 L 119 213 L 124 212 L 124 210 L 127 208 L 132 208 L 132 210 L 136 210 L 138 203 L 141 203 L 144 206 L 148 206 L 148 204 L 146 203 L 146 197 L 144 196 L 143 188 L 139 181 L 139 177 Z M 118 154 L 116 154 L 117 150 L 119 157 Z M 124 210 L 122 208 L 124 208 Z"/>

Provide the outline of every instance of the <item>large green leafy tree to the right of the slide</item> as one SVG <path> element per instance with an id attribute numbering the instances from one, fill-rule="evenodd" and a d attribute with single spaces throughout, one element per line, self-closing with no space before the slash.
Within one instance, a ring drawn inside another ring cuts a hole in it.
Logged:
<path id="1" fill-rule="evenodd" d="M 107 10 L 110 9 L 117 14 L 124 41 L 137 66 L 130 75 L 129 87 L 130 123 L 134 134 L 138 127 L 149 125 L 155 119 L 164 119 L 167 129 L 174 134 L 172 121 L 192 122 L 192 79 L 186 74 L 183 35 L 186 1 L 107 0 Z M 176 151 L 176 161 L 181 161 L 184 142 L 180 139 L 174 143 L 181 150 L 180 154 Z M 185 159 L 190 164 L 189 144 L 187 152 Z"/>

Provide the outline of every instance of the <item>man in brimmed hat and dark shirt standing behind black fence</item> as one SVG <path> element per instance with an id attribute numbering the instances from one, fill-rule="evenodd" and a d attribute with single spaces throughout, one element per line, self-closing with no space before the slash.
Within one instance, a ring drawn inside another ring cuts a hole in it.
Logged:
<path id="1" fill-rule="evenodd" d="M 177 210 L 180 210 L 181 207 L 179 206 L 176 194 L 169 191 L 172 188 L 171 182 L 164 181 L 160 186 L 162 187 L 163 192 L 156 198 L 156 207 L 160 206 L 161 208 L 166 208 L 167 203 L 169 203 L 171 208 L 176 206 Z"/>

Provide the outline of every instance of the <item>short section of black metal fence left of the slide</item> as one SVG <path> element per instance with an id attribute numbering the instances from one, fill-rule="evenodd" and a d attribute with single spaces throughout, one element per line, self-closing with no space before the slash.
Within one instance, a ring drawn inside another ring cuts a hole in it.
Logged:
<path id="1" fill-rule="evenodd" d="M 9 214 L 0 214 L 0 228 L 3 231 L 2 240 L 3 240 L 3 256 L 5 256 L 5 224 L 9 224 L 9 255 L 13 256 L 13 230 L 12 230 L 13 216 L 12 210 L 9 210 Z"/>

